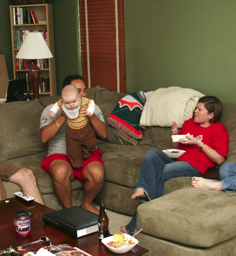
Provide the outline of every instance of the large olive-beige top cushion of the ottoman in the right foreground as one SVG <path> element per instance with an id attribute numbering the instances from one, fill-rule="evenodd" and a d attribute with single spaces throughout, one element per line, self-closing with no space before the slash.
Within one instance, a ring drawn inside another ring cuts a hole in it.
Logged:
<path id="1" fill-rule="evenodd" d="M 141 204 L 137 227 L 151 236 L 210 247 L 236 236 L 236 193 L 191 186 Z"/>

